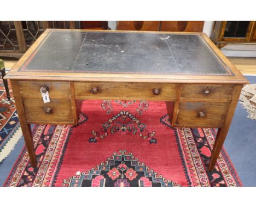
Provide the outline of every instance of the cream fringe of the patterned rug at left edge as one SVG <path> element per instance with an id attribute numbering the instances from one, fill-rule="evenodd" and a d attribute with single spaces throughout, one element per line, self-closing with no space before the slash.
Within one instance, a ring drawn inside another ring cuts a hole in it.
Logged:
<path id="1" fill-rule="evenodd" d="M 16 144 L 22 137 L 21 127 L 11 136 L 12 138 L 3 146 L 2 151 L 0 152 L 0 163 L 10 155 L 11 151 L 14 150 Z"/>

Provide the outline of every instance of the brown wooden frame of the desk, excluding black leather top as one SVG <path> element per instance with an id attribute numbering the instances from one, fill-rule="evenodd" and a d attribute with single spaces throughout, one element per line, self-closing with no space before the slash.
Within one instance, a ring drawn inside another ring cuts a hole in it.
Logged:
<path id="1" fill-rule="evenodd" d="M 167 111 L 173 126 L 219 128 L 208 166 L 208 170 L 212 171 L 228 133 L 241 89 L 243 84 L 248 84 L 248 81 L 205 34 L 175 33 L 199 35 L 207 47 L 211 48 L 219 62 L 223 63 L 234 76 L 19 71 L 22 64 L 27 61 L 27 58 L 51 30 L 53 29 L 46 29 L 9 74 L 5 76 L 5 79 L 10 79 L 11 82 L 22 133 L 33 166 L 37 166 L 37 161 L 30 124 L 76 124 L 83 99 L 147 99 L 166 101 Z M 108 31 L 104 30 L 104 32 Z M 120 31 L 110 30 L 109 32 Z M 129 33 L 129 31 L 125 32 Z M 134 31 L 132 32 L 134 33 Z M 171 34 L 171 32 L 159 33 Z M 63 103 L 66 112 L 63 119 L 62 115 L 59 117 L 57 111 L 53 111 L 53 114 L 49 115 L 44 114 L 43 107 L 47 106 L 47 103 L 38 101 L 39 99 L 42 100 L 39 86 L 43 85 L 50 88 L 49 94 L 53 109 L 55 102 Z M 67 94 L 64 97 L 60 90 L 62 87 L 67 89 Z M 156 93 L 155 90 L 159 90 L 159 92 Z M 211 93 L 208 93 L 207 90 Z M 33 113 L 36 112 L 39 115 L 33 116 Z"/>

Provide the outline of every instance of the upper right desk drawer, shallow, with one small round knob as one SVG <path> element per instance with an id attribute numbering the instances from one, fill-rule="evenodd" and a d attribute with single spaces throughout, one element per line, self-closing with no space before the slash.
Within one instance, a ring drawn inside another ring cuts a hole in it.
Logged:
<path id="1" fill-rule="evenodd" d="M 231 100 L 233 91 L 234 86 L 232 85 L 184 84 L 181 97 L 184 99 Z"/>

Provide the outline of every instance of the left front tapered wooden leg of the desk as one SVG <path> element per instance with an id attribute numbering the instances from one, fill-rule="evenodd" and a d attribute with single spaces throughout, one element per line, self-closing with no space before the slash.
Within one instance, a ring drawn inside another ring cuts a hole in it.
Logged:
<path id="1" fill-rule="evenodd" d="M 21 95 L 20 95 L 19 83 L 18 81 L 14 81 L 14 80 L 11 80 L 10 82 L 11 82 L 11 89 L 13 90 L 15 105 L 19 115 L 20 127 L 24 136 L 28 155 L 30 155 L 30 162 L 32 166 L 36 167 L 37 161 L 36 161 L 36 153 L 34 151 L 34 143 L 33 143 L 33 137 L 31 132 L 31 126 L 30 124 L 27 124 L 27 121 L 26 121 L 24 106 L 22 103 Z"/>

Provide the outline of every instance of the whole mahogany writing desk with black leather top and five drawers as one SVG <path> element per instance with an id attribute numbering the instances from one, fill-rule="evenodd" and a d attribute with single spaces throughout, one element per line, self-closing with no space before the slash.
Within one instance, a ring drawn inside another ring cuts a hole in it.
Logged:
<path id="1" fill-rule="evenodd" d="M 83 99 L 155 100 L 172 126 L 219 128 L 210 171 L 248 83 L 203 33 L 65 29 L 45 30 L 5 78 L 33 166 L 30 124 L 76 124 Z"/>

